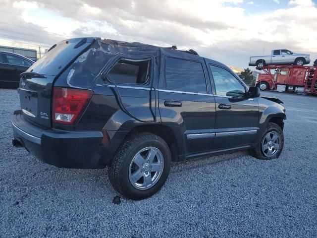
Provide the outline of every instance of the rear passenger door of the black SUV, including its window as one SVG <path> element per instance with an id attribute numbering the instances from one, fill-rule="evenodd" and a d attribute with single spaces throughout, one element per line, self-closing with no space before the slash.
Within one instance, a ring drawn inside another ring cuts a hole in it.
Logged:
<path id="1" fill-rule="evenodd" d="M 163 58 L 159 88 L 162 124 L 182 137 L 184 143 L 178 146 L 188 157 L 213 149 L 215 135 L 215 103 L 206 64 L 201 57 L 191 58 Z"/>

